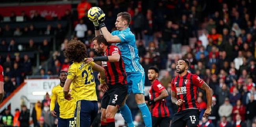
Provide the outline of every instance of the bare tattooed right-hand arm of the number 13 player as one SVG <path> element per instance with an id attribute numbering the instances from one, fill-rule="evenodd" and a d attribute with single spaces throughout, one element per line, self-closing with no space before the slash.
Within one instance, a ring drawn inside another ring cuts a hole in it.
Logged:
<path id="1" fill-rule="evenodd" d="M 207 99 L 207 109 L 204 112 L 204 117 L 208 117 L 211 114 L 211 101 L 212 101 L 212 90 L 211 88 L 204 82 L 201 87 L 202 90 L 206 91 L 206 99 Z"/>

